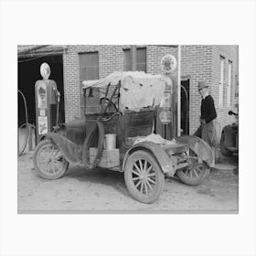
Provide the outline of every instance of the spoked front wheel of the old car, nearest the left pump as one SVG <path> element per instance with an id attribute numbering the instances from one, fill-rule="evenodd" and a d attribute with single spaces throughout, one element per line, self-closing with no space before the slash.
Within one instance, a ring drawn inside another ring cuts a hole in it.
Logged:
<path id="1" fill-rule="evenodd" d="M 38 176 L 46 179 L 64 176 L 69 167 L 69 162 L 51 140 L 43 140 L 37 144 L 33 162 Z"/>

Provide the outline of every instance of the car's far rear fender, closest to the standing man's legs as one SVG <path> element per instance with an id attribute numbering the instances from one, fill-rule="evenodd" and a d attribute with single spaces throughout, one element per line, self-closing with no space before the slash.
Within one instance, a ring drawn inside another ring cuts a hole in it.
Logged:
<path id="1" fill-rule="evenodd" d="M 208 166 L 215 165 L 214 152 L 211 147 L 195 135 L 184 135 L 175 138 L 177 143 L 187 144 Z"/>

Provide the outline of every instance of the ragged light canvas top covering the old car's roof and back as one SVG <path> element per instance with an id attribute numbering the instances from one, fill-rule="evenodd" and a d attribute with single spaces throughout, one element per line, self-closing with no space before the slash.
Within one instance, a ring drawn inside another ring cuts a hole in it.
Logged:
<path id="1" fill-rule="evenodd" d="M 139 111 L 155 107 L 164 99 L 165 88 L 172 86 L 172 80 L 162 75 L 146 74 L 143 71 L 113 72 L 101 80 L 85 80 L 83 88 L 106 88 L 120 84 L 119 111 Z"/>

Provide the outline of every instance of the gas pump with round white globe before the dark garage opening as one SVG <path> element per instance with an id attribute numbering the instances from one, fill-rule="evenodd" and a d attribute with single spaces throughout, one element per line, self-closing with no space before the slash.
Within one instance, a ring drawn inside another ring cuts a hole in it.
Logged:
<path id="1" fill-rule="evenodd" d="M 48 80 L 50 76 L 48 63 L 40 66 L 40 74 L 43 80 L 37 80 L 35 84 L 37 143 L 43 134 L 52 132 L 54 126 L 58 124 L 60 96 L 57 83 Z"/>

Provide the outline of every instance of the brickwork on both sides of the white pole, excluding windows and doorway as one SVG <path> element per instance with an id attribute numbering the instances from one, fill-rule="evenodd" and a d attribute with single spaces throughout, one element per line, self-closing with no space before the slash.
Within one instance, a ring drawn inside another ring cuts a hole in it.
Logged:
<path id="1" fill-rule="evenodd" d="M 177 58 L 177 48 L 168 46 L 140 46 L 146 47 L 146 69 L 148 73 L 159 74 L 162 72 L 160 61 L 167 53 L 173 54 Z M 99 76 L 100 79 L 111 74 L 113 71 L 123 71 L 123 48 L 130 46 L 121 45 L 98 45 L 69 46 L 67 53 L 63 56 L 64 68 L 64 86 L 65 86 L 65 114 L 66 121 L 80 117 L 80 71 L 79 71 L 79 53 L 98 51 L 99 52 Z M 194 133 L 199 125 L 200 116 L 200 95 L 197 91 L 198 80 L 205 80 L 210 85 L 212 94 L 218 112 L 218 122 L 221 127 L 230 122 L 228 116 L 226 98 L 224 106 L 219 108 L 219 55 L 225 57 L 225 78 L 228 80 L 228 61 L 234 63 L 232 68 L 232 90 L 231 90 L 231 108 L 236 103 L 235 95 L 238 98 L 238 90 L 235 89 L 235 73 L 237 66 L 237 51 L 235 46 L 211 46 L 211 45 L 184 45 L 181 47 L 181 77 L 190 80 L 190 102 L 189 102 L 189 131 Z M 174 72 L 176 75 L 176 71 Z M 227 86 L 224 86 L 224 95 L 227 96 Z M 235 100 L 234 100 L 235 99 Z"/>

